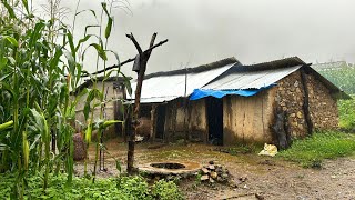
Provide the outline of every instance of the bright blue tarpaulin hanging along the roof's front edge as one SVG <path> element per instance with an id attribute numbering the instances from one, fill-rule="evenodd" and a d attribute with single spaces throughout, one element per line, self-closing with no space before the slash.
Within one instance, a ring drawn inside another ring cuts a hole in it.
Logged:
<path id="1" fill-rule="evenodd" d="M 251 97 L 255 96 L 256 93 L 268 89 L 275 84 L 271 84 L 267 87 L 263 87 L 260 89 L 245 89 L 245 90 L 204 90 L 204 89 L 194 89 L 192 94 L 190 96 L 190 100 L 197 100 L 205 97 L 214 97 L 214 98 L 223 98 L 224 96 L 243 96 L 243 97 Z"/>

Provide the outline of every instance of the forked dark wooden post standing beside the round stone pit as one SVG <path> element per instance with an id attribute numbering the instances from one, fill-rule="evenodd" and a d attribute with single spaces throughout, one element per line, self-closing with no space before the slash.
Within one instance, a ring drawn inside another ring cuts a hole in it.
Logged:
<path id="1" fill-rule="evenodd" d="M 139 52 L 139 60 L 138 60 L 139 69 L 136 70 L 138 81 L 136 81 L 136 88 L 135 88 L 134 110 L 133 110 L 133 120 L 132 120 L 133 131 L 130 132 L 130 137 L 129 137 L 129 150 L 128 150 L 128 162 L 126 162 L 128 173 L 133 174 L 133 172 L 134 172 L 133 162 L 134 162 L 135 134 L 136 134 L 138 127 L 140 124 L 139 113 L 140 113 L 140 103 L 141 103 L 141 91 L 142 91 L 142 84 L 143 84 L 144 73 L 145 73 L 145 69 L 146 69 L 146 63 L 148 63 L 148 60 L 152 53 L 152 50 L 154 48 L 168 42 L 168 40 L 161 41 L 154 46 L 154 41 L 156 38 L 156 33 L 154 33 L 151 38 L 150 48 L 143 52 L 142 48 L 136 42 L 136 40 L 132 33 L 125 34 L 125 36 L 133 42 L 133 44 L 135 46 L 135 48 Z"/>

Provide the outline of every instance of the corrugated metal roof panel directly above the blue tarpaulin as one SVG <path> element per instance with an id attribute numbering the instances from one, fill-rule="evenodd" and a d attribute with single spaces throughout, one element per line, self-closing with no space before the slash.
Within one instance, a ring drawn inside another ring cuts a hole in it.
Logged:
<path id="1" fill-rule="evenodd" d="M 226 71 L 225 76 L 217 78 L 202 89 L 211 90 L 241 90 L 260 89 L 271 86 L 290 73 L 298 70 L 302 66 L 291 68 L 278 68 L 263 71 Z M 239 68 L 239 67 L 235 67 Z M 231 69 L 232 70 L 232 69 Z"/>

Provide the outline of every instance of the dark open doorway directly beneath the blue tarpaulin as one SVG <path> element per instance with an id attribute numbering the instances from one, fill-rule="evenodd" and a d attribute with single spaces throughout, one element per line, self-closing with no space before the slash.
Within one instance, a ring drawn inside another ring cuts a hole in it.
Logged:
<path id="1" fill-rule="evenodd" d="M 214 146 L 223 146 L 223 100 L 206 98 L 209 118 L 209 142 Z"/>

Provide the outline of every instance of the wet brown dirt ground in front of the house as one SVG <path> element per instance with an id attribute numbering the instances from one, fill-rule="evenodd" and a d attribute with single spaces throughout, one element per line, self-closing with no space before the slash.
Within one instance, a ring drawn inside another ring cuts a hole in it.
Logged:
<path id="1" fill-rule="evenodd" d="M 100 177 L 118 174 L 114 159 L 125 167 L 126 144 L 118 139 L 105 143 L 106 172 Z M 195 180 L 182 180 L 180 188 L 187 199 L 354 199 L 355 200 L 355 157 L 327 160 L 322 169 L 304 169 L 281 159 L 261 157 L 254 153 L 231 156 L 215 151 L 216 147 L 205 144 L 159 144 L 139 143 L 135 163 L 151 161 L 195 161 L 206 164 L 213 160 L 225 166 L 237 187 L 223 184 L 207 186 Z M 90 148 L 89 171 L 93 169 L 94 148 Z M 75 163 L 75 172 L 82 176 L 83 162 Z M 245 182 L 239 181 L 246 178 Z"/>

